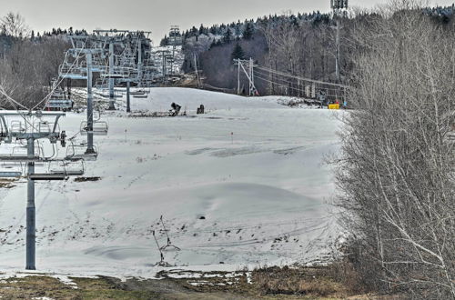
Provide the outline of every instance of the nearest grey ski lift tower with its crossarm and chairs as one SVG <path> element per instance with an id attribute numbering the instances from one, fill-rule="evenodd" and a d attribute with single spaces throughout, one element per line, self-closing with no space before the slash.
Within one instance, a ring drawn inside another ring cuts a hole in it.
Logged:
<path id="1" fill-rule="evenodd" d="M 37 174 L 35 173 L 35 163 L 49 162 L 47 159 L 36 153 L 35 142 L 42 139 L 48 139 L 51 144 L 58 142 L 66 146 L 65 131 L 57 132 L 58 120 L 64 116 L 63 113 L 42 113 L 37 112 L 0 112 L 0 123 L 2 131 L 0 132 L 0 143 L 14 144 L 17 141 L 26 141 L 26 155 L 1 155 L 0 161 L 10 163 L 25 163 L 27 165 L 27 205 L 26 205 L 26 264 L 25 269 L 35 270 L 35 181 L 48 180 L 65 180 L 65 174 Z M 8 128 L 7 118 L 13 118 L 11 128 Z M 34 124 L 34 118 L 39 122 Z M 52 122 L 44 121 L 46 118 L 53 118 Z M 24 119 L 25 123 L 18 121 Z M 16 124 L 16 125 L 13 125 Z M 0 173 L 0 177 L 20 177 L 22 172 Z"/>

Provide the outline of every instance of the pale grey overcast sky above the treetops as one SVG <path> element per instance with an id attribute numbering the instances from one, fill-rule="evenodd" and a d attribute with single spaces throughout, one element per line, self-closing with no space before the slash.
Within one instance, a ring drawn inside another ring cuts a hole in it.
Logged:
<path id="1" fill-rule="evenodd" d="M 372 7 L 385 0 L 349 0 L 349 5 Z M 451 5 L 454 0 L 433 3 Z M 213 25 L 256 19 L 258 16 L 319 10 L 329 11 L 329 0 L 0 0 L 8 11 L 25 16 L 35 31 L 53 27 L 131 29 L 152 31 L 157 44 L 170 25 L 187 29 L 193 25 Z"/>

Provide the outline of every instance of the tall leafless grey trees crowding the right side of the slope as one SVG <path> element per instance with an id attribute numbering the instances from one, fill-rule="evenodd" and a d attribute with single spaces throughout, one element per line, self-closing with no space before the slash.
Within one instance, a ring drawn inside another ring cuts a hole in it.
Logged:
<path id="1" fill-rule="evenodd" d="M 357 31 L 339 205 L 376 288 L 455 298 L 455 28 L 410 0 L 380 15 Z"/>

